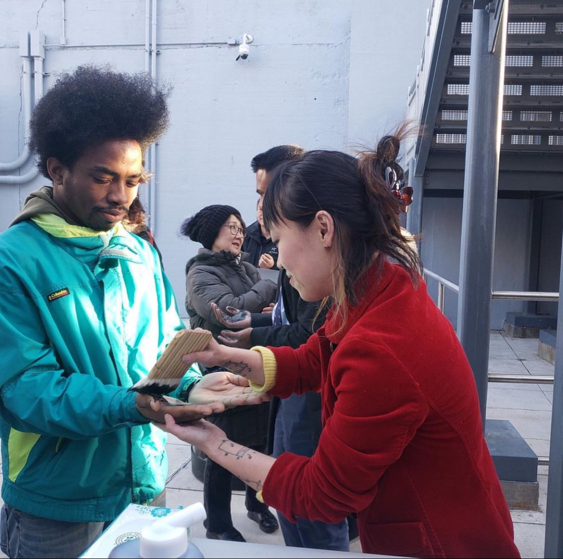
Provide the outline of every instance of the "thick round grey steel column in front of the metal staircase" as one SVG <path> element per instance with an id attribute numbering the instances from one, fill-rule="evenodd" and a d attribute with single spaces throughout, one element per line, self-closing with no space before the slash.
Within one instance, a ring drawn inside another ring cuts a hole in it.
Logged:
<path id="1" fill-rule="evenodd" d="M 483 426 L 508 12 L 508 2 L 500 4 L 504 10 L 493 53 L 489 52 L 493 18 L 488 10 L 473 9 L 459 265 L 458 336 L 475 375 Z"/>

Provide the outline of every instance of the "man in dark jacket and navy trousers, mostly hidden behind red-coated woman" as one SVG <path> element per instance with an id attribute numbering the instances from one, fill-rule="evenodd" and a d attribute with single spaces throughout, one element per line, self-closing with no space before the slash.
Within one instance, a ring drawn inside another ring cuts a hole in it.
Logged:
<path id="1" fill-rule="evenodd" d="M 300 158 L 303 154 L 305 150 L 302 147 L 282 145 L 272 147 L 252 159 L 251 167 L 256 174 L 256 192 L 260 196 L 257 206 L 259 220 L 262 215 L 263 196 L 272 171 L 278 164 Z M 248 251 L 248 248 L 246 250 Z M 289 284 L 285 270 L 280 271 L 278 289 L 278 301 L 271 314 L 246 313 L 243 320 L 233 322 L 233 317 L 226 316 L 215 309 L 218 319 L 222 318 L 229 328 L 242 328 L 238 332 L 224 331 L 219 338 L 221 342 L 236 347 L 291 346 L 294 348 L 305 343 L 324 323 L 327 307 L 319 311 L 320 302 L 303 301 L 297 290 Z M 274 457 L 277 458 L 284 452 L 307 457 L 314 454 L 322 429 L 320 408 L 320 394 L 316 392 L 293 394 L 284 400 L 278 398 L 272 400 L 270 433 L 273 430 L 273 437 L 270 437 L 270 441 L 273 438 L 273 444 L 270 444 L 269 450 Z M 286 545 L 348 551 L 346 520 L 338 524 L 325 524 L 298 518 L 297 523 L 294 524 L 279 512 L 278 517 Z"/>

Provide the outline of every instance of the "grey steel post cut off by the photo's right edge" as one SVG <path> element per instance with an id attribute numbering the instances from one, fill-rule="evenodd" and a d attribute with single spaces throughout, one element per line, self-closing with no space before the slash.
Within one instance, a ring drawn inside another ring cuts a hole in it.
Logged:
<path id="1" fill-rule="evenodd" d="M 555 373 L 549 439 L 549 476 L 547 479 L 546 545 L 544 557 L 563 557 L 563 243 L 561 247 L 559 304 Z"/>

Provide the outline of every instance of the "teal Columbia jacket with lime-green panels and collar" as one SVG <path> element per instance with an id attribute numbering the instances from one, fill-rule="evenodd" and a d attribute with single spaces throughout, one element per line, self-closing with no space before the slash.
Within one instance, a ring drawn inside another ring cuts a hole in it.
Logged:
<path id="1" fill-rule="evenodd" d="M 184 328 L 153 247 L 40 214 L 0 235 L 2 498 L 113 520 L 164 489 L 166 434 L 127 388 Z M 186 377 L 176 396 L 193 384 Z"/>

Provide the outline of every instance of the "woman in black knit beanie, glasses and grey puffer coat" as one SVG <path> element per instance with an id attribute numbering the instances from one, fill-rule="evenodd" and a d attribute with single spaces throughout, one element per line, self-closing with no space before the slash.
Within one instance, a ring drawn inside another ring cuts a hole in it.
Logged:
<path id="1" fill-rule="evenodd" d="M 235 307 L 261 312 L 274 301 L 276 284 L 261 279 L 257 269 L 244 262 L 242 248 L 246 227 L 238 209 L 230 205 L 209 205 L 185 220 L 183 235 L 203 245 L 186 264 L 186 310 L 191 328 L 210 330 L 216 338 L 225 327 L 211 310 L 216 303 L 224 312 Z M 202 373 L 209 372 L 203 366 Z M 264 451 L 267 443 L 269 403 L 240 406 L 209 418 L 235 440 L 254 450 Z M 204 473 L 203 497 L 210 539 L 244 542 L 231 518 L 232 475 L 211 459 Z M 278 521 L 269 508 L 258 501 L 256 491 L 246 486 L 248 517 L 267 533 L 278 529 Z"/>

